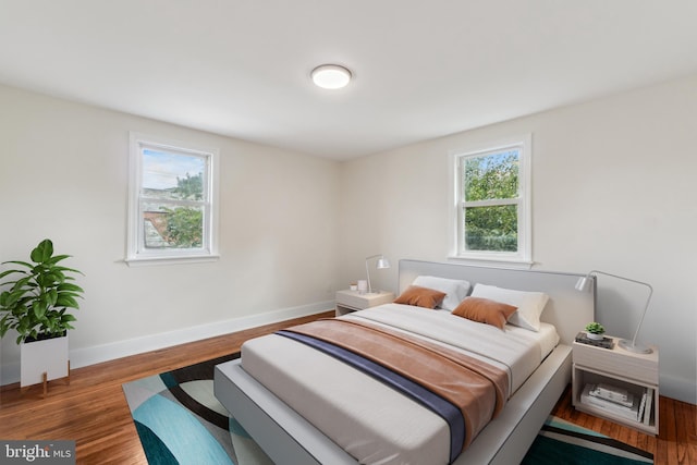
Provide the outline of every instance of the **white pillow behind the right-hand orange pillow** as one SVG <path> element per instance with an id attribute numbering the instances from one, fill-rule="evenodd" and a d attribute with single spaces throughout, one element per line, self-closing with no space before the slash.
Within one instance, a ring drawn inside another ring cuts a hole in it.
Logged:
<path id="1" fill-rule="evenodd" d="M 540 315 L 542 315 L 545 305 L 549 301 L 549 295 L 543 292 L 514 291 L 479 283 L 475 284 L 472 296 L 489 298 L 518 307 L 517 311 L 509 318 L 509 322 L 535 332 L 540 330 Z"/>

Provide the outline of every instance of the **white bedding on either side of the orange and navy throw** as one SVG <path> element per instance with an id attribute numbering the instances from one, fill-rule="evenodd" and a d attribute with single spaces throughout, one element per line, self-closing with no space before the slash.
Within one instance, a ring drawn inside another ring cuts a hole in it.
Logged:
<path id="1" fill-rule="evenodd" d="M 551 326 L 539 333 L 511 326 L 501 331 L 400 304 L 342 318 L 368 319 L 489 359 L 510 370 L 511 392 L 559 341 Z M 331 356 L 271 334 L 243 345 L 242 366 L 359 463 L 448 463 L 450 435 L 441 417 Z"/>

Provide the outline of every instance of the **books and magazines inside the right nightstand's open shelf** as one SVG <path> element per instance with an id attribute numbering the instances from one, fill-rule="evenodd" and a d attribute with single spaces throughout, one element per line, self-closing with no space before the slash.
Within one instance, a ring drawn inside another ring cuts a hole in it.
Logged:
<path id="1" fill-rule="evenodd" d="M 625 389 L 611 384 L 586 384 L 580 395 L 583 404 L 603 409 L 611 415 L 649 424 L 653 392 L 645 389 L 641 395 L 635 395 Z"/>

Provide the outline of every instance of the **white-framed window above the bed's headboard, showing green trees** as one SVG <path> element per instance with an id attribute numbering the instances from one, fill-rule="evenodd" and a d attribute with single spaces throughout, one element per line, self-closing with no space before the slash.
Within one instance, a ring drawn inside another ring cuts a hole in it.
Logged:
<path id="1" fill-rule="evenodd" d="M 452 155 L 454 258 L 530 261 L 530 140 Z"/>

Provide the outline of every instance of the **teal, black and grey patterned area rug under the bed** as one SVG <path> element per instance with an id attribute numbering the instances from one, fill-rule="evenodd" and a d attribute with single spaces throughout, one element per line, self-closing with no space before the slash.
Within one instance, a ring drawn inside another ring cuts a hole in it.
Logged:
<path id="1" fill-rule="evenodd" d="M 149 465 L 272 464 L 213 395 L 213 367 L 239 356 L 123 384 Z M 523 460 L 523 465 L 652 463 L 647 452 L 552 416 Z"/>

